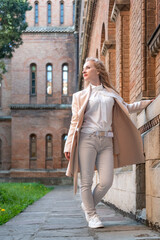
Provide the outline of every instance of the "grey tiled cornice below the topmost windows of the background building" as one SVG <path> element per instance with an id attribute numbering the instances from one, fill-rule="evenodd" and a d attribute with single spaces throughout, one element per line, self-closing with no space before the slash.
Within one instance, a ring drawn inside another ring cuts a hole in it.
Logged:
<path id="1" fill-rule="evenodd" d="M 27 33 L 74 33 L 75 26 L 69 26 L 69 27 L 27 27 L 25 31 L 23 31 L 23 34 Z"/>

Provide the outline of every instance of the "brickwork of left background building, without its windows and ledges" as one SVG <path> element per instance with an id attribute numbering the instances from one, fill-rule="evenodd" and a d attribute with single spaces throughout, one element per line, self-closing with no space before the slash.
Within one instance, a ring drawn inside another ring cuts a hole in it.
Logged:
<path id="1" fill-rule="evenodd" d="M 26 21 L 34 27 L 33 9 L 27 12 Z M 47 0 L 39 1 L 39 27 L 47 26 Z M 60 1 L 52 4 L 52 27 L 73 25 L 73 1 L 64 1 L 64 24 L 60 25 Z M 35 32 L 23 34 L 23 45 L 7 61 L 8 72 L 2 82 L 2 108 L 0 109 L 0 138 L 2 139 L 1 169 L 19 169 L 14 177 L 33 177 L 27 169 L 59 169 L 66 167 L 62 161 L 62 136 L 67 134 L 70 125 L 70 108 L 57 109 L 10 109 L 11 104 L 71 104 L 72 94 L 76 88 L 76 42 L 74 33 Z M 30 65 L 37 66 L 37 95 L 30 96 Z M 53 94 L 46 95 L 46 65 L 53 66 Z M 68 63 L 68 96 L 62 96 L 62 65 Z M 12 116 L 10 122 L 2 116 Z M 3 120 L 3 121 L 2 121 Z M 29 136 L 37 136 L 37 160 L 30 161 Z M 46 161 L 46 135 L 53 136 L 53 159 Z M 26 169 L 23 172 L 20 169 Z M 38 170 L 37 170 L 38 171 Z M 28 174 L 28 175 L 27 175 Z M 43 176 L 37 173 L 36 176 Z M 58 173 L 55 175 L 57 176 Z M 64 173 L 60 175 L 64 176 Z M 55 176 L 54 175 L 54 176 Z M 11 175 L 10 175 L 11 176 Z M 46 176 L 46 174 L 44 174 Z M 12 175 L 13 177 L 13 175 Z"/>

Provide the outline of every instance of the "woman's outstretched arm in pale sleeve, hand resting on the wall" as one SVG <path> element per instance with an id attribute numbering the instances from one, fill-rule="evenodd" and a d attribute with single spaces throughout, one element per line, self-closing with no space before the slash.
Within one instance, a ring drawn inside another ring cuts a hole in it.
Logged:
<path id="1" fill-rule="evenodd" d="M 142 100 L 142 101 L 134 102 L 134 103 L 126 103 L 126 102 L 123 102 L 123 103 L 127 107 L 129 113 L 135 113 L 135 112 L 142 111 L 151 102 L 152 102 L 152 100 Z"/>

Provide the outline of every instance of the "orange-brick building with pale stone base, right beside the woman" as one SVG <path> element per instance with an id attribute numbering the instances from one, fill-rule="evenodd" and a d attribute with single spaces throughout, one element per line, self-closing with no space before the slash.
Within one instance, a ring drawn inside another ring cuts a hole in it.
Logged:
<path id="1" fill-rule="evenodd" d="M 160 1 L 82 0 L 79 12 L 79 87 L 85 58 L 92 56 L 105 63 L 126 102 L 156 98 L 131 115 L 145 164 L 115 169 L 105 201 L 160 227 Z"/>

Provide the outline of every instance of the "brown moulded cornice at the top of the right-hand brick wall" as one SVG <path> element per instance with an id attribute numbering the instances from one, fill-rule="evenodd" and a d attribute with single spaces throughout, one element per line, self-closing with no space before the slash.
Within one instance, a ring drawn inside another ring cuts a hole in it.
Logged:
<path id="1" fill-rule="evenodd" d="M 129 11 L 130 0 L 115 0 L 111 13 L 111 21 L 116 22 L 120 11 Z"/>

